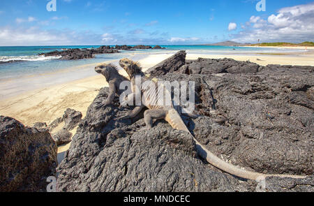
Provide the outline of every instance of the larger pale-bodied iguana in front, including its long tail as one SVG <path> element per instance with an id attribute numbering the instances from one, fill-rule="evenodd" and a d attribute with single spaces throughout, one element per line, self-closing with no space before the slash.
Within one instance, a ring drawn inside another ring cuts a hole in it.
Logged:
<path id="1" fill-rule="evenodd" d="M 128 73 L 130 77 L 130 82 L 131 82 L 131 89 L 133 91 L 133 97 L 140 95 L 142 98 L 142 105 L 137 106 L 135 110 L 131 112 L 127 112 L 123 116 L 119 117 L 119 119 L 124 119 L 124 118 L 129 118 L 129 117 L 135 117 L 144 106 L 149 108 L 149 110 L 146 110 L 144 112 L 144 122 L 147 125 L 147 128 L 152 128 L 153 126 L 153 119 L 165 119 L 172 128 L 181 130 L 181 131 L 186 131 L 188 132 L 192 137 L 193 140 L 195 141 L 196 145 L 196 150 L 197 154 L 202 157 L 202 159 L 206 159 L 208 163 L 211 165 L 214 165 L 216 168 L 223 170 L 227 173 L 230 173 L 231 175 L 235 175 L 237 177 L 242 177 L 244 179 L 253 179 L 257 182 L 260 180 L 266 178 L 266 177 L 291 177 L 291 178 L 305 178 L 306 176 L 299 176 L 299 175 L 265 175 L 259 172 L 251 172 L 247 170 L 243 170 L 241 168 L 238 168 L 237 166 L 234 166 L 230 163 L 227 163 L 221 159 L 218 158 L 215 154 L 210 152 L 206 147 L 200 144 L 195 137 L 190 133 L 186 125 L 184 124 L 183 120 L 181 119 L 179 113 L 177 110 L 174 109 L 173 105 L 158 105 L 156 104 L 156 101 L 158 101 L 158 91 L 156 92 L 156 88 L 153 89 L 149 87 L 144 87 L 144 88 L 138 88 L 137 85 L 135 85 L 135 76 L 140 76 L 142 78 L 142 82 L 149 80 L 147 76 L 144 75 L 142 72 L 139 64 L 129 60 L 129 59 L 121 59 L 119 61 L 119 64 L 126 73 Z M 140 86 L 142 87 L 142 86 Z M 137 94 L 134 92 L 137 89 Z M 156 94 L 157 93 L 157 94 Z M 165 93 L 168 93 L 169 91 L 166 91 Z"/>

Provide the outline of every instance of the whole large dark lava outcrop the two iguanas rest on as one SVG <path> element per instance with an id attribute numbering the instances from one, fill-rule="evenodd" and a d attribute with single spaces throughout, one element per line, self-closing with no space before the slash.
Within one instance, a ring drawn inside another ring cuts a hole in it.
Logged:
<path id="1" fill-rule="evenodd" d="M 308 175 L 267 177 L 266 191 L 314 191 L 313 67 L 198 59 L 170 72 L 178 61 L 172 62 L 156 67 L 156 73 L 160 80 L 195 81 L 195 112 L 202 117 L 183 119 L 197 140 L 246 170 Z M 187 74 L 182 69 L 187 66 L 198 72 Z M 126 110 L 119 108 L 118 98 L 96 110 L 107 92 L 102 89 L 90 105 L 59 165 L 59 191 L 256 190 L 257 182 L 204 163 L 195 155 L 190 136 L 165 121 L 147 131 L 140 131 L 142 115 L 115 121 Z"/>

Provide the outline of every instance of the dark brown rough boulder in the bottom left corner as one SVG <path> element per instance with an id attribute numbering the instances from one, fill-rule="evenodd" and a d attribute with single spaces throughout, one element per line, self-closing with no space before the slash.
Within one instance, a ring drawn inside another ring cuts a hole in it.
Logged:
<path id="1" fill-rule="evenodd" d="M 0 191 L 45 191 L 56 168 L 57 145 L 47 130 L 0 116 Z"/>

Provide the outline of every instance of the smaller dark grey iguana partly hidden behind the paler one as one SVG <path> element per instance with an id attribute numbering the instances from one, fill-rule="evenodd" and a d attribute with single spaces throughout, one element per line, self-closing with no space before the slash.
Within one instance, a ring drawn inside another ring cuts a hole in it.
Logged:
<path id="1" fill-rule="evenodd" d="M 128 88 L 130 88 L 130 81 L 124 76 L 120 75 L 117 71 L 117 66 L 113 64 L 98 64 L 95 67 L 96 73 L 100 73 L 105 76 L 106 81 L 109 84 L 110 94 L 108 95 L 105 101 L 96 104 L 96 109 L 101 108 L 103 106 L 110 105 L 114 100 L 114 96 L 117 94 L 120 96 L 123 91 L 121 91 L 120 84 L 121 82 L 128 82 Z"/>

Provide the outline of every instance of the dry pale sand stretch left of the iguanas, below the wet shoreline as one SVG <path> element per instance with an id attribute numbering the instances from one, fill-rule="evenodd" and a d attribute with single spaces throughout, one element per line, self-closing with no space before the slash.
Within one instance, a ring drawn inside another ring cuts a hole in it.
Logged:
<path id="1" fill-rule="evenodd" d="M 87 104 L 96 97 L 99 89 L 105 86 L 107 86 L 105 79 L 97 75 L 36 89 L 0 101 L 0 113 L 14 117 L 27 126 L 32 126 L 36 122 L 50 124 L 57 117 L 62 117 L 67 108 L 86 113 Z"/>

